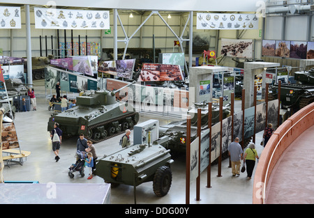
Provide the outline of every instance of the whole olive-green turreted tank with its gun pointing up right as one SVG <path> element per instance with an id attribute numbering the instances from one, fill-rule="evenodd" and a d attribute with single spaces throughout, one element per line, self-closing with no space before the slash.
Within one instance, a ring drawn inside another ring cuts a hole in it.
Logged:
<path id="1" fill-rule="evenodd" d="M 57 122 L 63 136 L 82 133 L 96 143 L 132 129 L 140 115 L 127 102 L 119 102 L 115 97 L 115 93 L 132 84 L 116 91 L 85 91 L 76 98 L 77 106 L 49 118 L 47 130 L 53 130 Z"/>

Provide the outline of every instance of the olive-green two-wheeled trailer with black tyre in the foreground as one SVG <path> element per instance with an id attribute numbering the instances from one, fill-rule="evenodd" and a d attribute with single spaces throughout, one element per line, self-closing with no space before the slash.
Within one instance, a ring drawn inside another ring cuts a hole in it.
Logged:
<path id="1" fill-rule="evenodd" d="M 98 158 L 94 174 L 112 187 L 133 185 L 134 194 L 138 185 L 153 181 L 156 196 L 165 196 L 172 183 L 172 162 L 170 150 L 163 146 L 137 144 Z"/>

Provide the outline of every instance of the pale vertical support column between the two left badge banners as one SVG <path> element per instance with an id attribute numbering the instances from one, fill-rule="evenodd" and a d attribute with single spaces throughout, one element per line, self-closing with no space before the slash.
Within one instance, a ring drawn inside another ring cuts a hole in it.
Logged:
<path id="1" fill-rule="evenodd" d="M 27 30 L 27 83 L 33 84 L 33 71 L 31 65 L 31 19 L 29 5 L 25 5 L 25 20 Z M 32 85 L 31 85 L 32 86 Z"/>

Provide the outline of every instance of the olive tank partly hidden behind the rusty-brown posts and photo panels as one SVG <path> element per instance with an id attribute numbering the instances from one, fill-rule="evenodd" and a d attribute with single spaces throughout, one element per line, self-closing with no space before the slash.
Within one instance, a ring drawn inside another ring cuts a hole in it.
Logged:
<path id="1" fill-rule="evenodd" d="M 191 115 L 191 128 L 190 128 L 190 140 L 193 141 L 197 137 L 197 109 L 201 108 L 202 111 L 202 130 L 208 127 L 208 104 L 200 102 L 195 104 L 194 109 L 188 111 L 188 115 Z M 213 105 L 212 107 L 212 120 L 211 124 L 215 125 L 219 122 L 219 106 Z M 229 107 L 223 107 L 223 119 L 230 116 Z M 168 125 L 160 126 L 160 143 L 167 149 L 170 149 L 174 153 L 186 152 L 186 120 L 179 120 L 169 123 Z"/>

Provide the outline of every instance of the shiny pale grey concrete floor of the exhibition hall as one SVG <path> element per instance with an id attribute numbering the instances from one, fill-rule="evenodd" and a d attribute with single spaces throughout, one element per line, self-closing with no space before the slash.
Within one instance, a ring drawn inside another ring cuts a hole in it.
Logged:
<path id="1" fill-rule="evenodd" d="M 36 86 L 37 84 L 37 86 Z M 15 126 L 20 141 L 21 150 L 31 151 L 27 161 L 21 166 L 15 164 L 5 166 L 3 170 L 4 180 L 38 180 L 40 183 L 103 183 L 103 179 L 95 176 L 87 180 L 87 176 L 81 178 L 76 172 L 74 178 L 69 178 L 68 167 L 75 162 L 75 148 L 77 137 L 62 141 L 59 162 L 54 161 L 50 133 L 47 132 L 47 121 L 51 112 L 47 110 L 48 100 L 45 98 L 43 83 L 37 82 L 34 86 L 37 111 L 17 112 Z M 238 105 L 238 106 L 237 106 Z M 236 111 L 241 102 L 236 104 Z M 241 108 L 241 107 L 240 107 Z M 149 119 L 158 119 L 160 125 L 170 123 L 177 118 L 170 116 L 151 116 L 151 114 L 140 114 L 140 122 Z M 132 134 L 131 134 L 132 135 Z M 108 150 L 114 150 L 119 146 L 120 136 L 107 139 L 106 141 L 94 144 L 98 157 L 103 156 Z M 262 153 L 262 146 L 259 145 L 262 133 L 256 134 L 257 153 Z M 132 140 L 132 139 L 131 139 Z M 255 164 L 255 168 L 256 168 Z M 217 165 L 211 166 L 211 188 L 207 188 L 207 171 L 200 176 L 200 199 L 195 201 L 195 182 L 190 183 L 191 204 L 239 204 L 252 203 L 253 178 L 246 179 L 246 173 L 241 173 L 239 178 L 232 177 L 229 160 L 222 162 L 222 177 L 217 177 Z M 172 186 L 166 196 L 157 197 L 153 191 L 152 182 L 137 186 L 136 200 L 139 204 L 184 204 L 186 203 L 186 174 L 185 157 L 176 157 L 172 164 Z M 128 204 L 134 203 L 133 187 L 119 185 L 111 190 L 111 203 Z"/>

